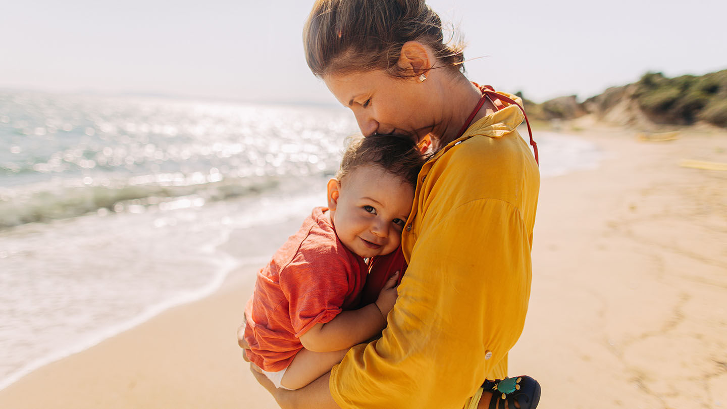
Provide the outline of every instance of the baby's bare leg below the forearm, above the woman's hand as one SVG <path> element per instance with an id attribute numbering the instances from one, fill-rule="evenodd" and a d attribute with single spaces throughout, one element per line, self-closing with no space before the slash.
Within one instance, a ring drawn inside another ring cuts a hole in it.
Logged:
<path id="1" fill-rule="evenodd" d="M 348 349 L 332 352 L 312 352 L 301 349 L 290 362 L 280 384 L 288 389 L 300 389 L 310 384 L 341 362 Z"/>

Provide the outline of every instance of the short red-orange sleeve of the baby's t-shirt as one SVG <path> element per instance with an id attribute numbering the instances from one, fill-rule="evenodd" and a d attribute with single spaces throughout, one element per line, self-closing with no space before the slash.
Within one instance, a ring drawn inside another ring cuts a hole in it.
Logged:
<path id="1" fill-rule="evenodd" d="M 299 252 L 281 271 L 280 287 L 289 301 L 297 338 L 340 314 L 349 289 L 350 270 L 341 255 L 317 249 Z"/>

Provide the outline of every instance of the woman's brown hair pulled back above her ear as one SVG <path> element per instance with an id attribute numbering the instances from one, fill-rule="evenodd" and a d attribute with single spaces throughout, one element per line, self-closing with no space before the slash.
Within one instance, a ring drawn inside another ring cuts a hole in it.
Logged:
<path id="1" fill-rule="evenodd" d="M 406 41 L 430 47 L 441 66 L 464 72 L 464 45 L 444 41 L 442 22 L 424 0 L 316 0 L 303 28 L 305 60 L 318 77 L 386 70 L 405 78 L 396 64 Z"/>

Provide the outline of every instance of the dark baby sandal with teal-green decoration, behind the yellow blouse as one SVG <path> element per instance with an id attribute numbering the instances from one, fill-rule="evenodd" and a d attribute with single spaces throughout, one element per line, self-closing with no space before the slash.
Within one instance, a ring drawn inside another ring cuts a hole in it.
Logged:
<path id="1" fill-rule="evenodd" d="M 515 409 L 515 402 L 520 409 L 535 409 L 540 401 L 540 384 L 529 376 L 485 381 L 482 389 L 492 394 L 489 409 L 505 409 L 505 402 L 508 409 Z"/>

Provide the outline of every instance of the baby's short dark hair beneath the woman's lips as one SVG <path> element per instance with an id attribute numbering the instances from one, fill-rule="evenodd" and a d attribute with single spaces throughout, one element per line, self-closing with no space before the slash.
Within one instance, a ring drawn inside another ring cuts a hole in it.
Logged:
<path id="1" fill-rule="evenodd" d="M 350 138 L 336 178 L 342 180 L 356 167 L 374 165 L 417 187 L 425 156 L 411 138 L 401 135 L 371 135 Z"/>

